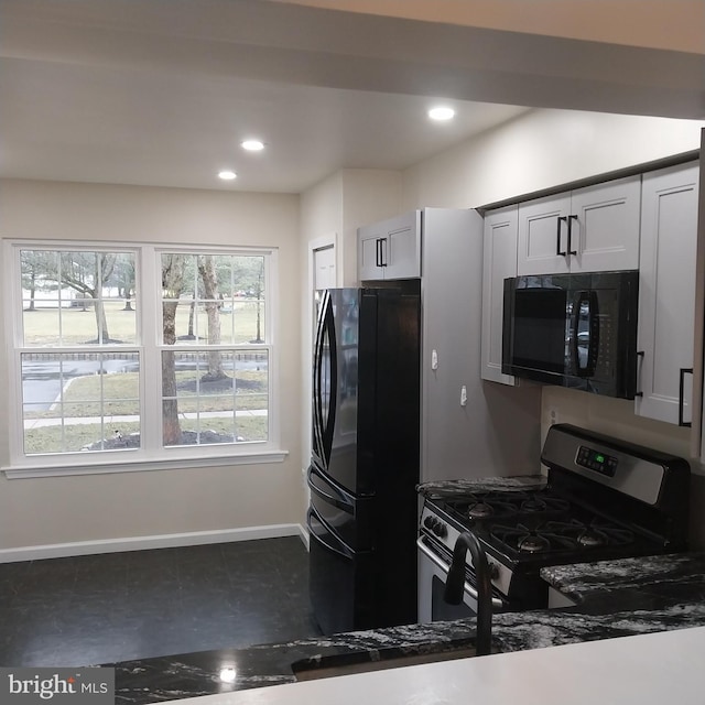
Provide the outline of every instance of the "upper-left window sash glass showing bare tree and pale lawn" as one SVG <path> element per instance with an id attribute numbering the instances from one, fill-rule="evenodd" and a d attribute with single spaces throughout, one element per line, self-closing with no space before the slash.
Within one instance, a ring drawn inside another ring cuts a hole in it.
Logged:
<path id="1" fill-rule="evenodd" d="M 137 341 L 134 254 L 22 250 L 20 262 L 26 347 Z"/>

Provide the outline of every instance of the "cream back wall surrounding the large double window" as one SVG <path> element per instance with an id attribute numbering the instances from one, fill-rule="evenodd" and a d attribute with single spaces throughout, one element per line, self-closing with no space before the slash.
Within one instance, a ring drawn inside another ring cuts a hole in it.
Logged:
<path id="1" fill-rule="evenodd" d="M 283 463 L 8 480 L 0 475 L 0 550 L 297 523 L 302 288 L 299 197 L 4 181 L 7 238 L 252 245 L 279 248 Z M 7 326 L 2 326 L 2 332 Z M 3 333 L 0 333 L 2 336 Z M 4 356 L 4 339 L 0 356 Z M 0 357 L 0 364 L 2 359 Z M 6 366 L 2 366 L 6 369 Z M 8 463 L 0 404 L 0 463 Z"/>

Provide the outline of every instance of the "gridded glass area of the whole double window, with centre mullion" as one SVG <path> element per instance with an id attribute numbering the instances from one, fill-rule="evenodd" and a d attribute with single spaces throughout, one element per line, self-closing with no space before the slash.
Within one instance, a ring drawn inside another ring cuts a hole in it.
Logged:
<path id="1" fill-rule="evenodd" d="M 19 464 L 270 441 L 271 253 L 18 252 Z M 140 334 L 141 321 L 156 332 Z"/>

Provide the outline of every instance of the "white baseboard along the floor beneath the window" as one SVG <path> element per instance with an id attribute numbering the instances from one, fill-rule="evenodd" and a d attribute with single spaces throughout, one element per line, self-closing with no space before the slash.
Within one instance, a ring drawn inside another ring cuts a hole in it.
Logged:
<path id="1" fill-rule="evenodd" d="M 22 546 L 19 549 L 0 549 L 0 563 L 40 561 L 42 558 L 59 558 L 94 553 L 118 553 L 120 551 L 195 546 L 207 543 L 229 543 L 231 541 L 253 541 L 256 539 L 279 539 L 281 536 L 299 536 L 306 545 L 306 550 L 308 549 L 308 534 L 301 524 L 270 524 L 267 527 L 247 527 L 245 529 L 193 531 L 189 533 L 169 533 L 155 536 L 101 539 L 98 541 L 77 541 L 73 543 Z"/>

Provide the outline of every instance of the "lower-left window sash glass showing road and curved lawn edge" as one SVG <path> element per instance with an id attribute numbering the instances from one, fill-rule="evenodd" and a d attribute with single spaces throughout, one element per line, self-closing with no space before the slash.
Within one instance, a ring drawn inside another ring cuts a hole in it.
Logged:
<path id="1" fill-rule="evenodd" d="M 137 352 L 22 355 L 24 452 L 140 447 Z"/>

